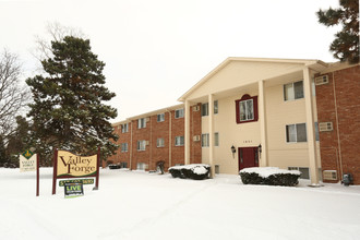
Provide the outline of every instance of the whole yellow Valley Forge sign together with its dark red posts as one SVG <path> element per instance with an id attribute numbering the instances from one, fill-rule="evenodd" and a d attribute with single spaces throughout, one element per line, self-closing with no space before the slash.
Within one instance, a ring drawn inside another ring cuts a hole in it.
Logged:
<path id="1" fill-rule="evenodd" d="M 99 155 L 99 148 L 98 153 L 92 156 L 79 156 L 68 151 L 56 149 L 53 154 L 52 194 L 57 192 L 57 179 L 61 178 L 95 177 L 95 188 L 98 189 Z"/>

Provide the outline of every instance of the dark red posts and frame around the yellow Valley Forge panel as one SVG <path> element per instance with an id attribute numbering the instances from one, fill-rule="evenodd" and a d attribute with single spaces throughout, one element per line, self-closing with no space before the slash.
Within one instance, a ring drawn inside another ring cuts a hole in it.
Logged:
<path id="1" fill-rule="evenodd" d="M 53 153 L 53 173 L 52 173 L 52 195 L 57 193 L 57 180 L 58 179 L 70 179 L 70 178 L 88 178 L 88 177 L 95 177 L 96 181 L 95 181 L 95 188 L 93 190 L 98 190 L 99 188 L 99 166 L 100 166 L 100 147 L 97 148 L 97 154 L 96 154 L 96 171 L 94 173 L 87 175 L 87 176 L 58 176 L 58 156 L 59 156 L 59 151 L 56 148 L 55 153 Z M 64 151 L 68 152 L 68 151 Z M 70 154 L 72 154 L 71 152 L 68 152 Z M 72 154 L 75 155 L 75 154 Z M 75 155 L 76 157 L 89 157 L 89 156 L 79 156 Z M 94 155 L 93 155 L 94 156 Z"/>

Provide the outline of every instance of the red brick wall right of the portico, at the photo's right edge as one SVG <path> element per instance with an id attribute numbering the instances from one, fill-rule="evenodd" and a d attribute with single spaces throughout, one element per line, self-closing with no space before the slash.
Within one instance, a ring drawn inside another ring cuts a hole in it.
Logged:
<path id="1" fill-rule="evenodd" d="M 325 75 L 325 74 L 324 74 Z M 326 73 L 328 83 L 316 86 L 317 122 L 332 122 L 320 132 L 322 170 L 336 170 L 360 184 L 360 65 Z"/>

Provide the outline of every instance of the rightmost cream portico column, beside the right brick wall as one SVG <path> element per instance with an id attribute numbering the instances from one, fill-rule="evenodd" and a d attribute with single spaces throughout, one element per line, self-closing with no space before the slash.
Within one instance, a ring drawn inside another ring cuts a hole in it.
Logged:
<path id="1" fill-rule="evenodd" d="M 307 111 L 307 135 L 308 135 L 308 148 L 309 148 L 309 166 L 310 178 L 312 185 L 319 185 L 319 166 L 316 155 L 316 142 L 315 142 L 315 121 L 314 121 L 314 108 L 311 91 L 311 76 L 309 68 L 303 69 L 303 89 L 305 97 L 305 111 Z"/>

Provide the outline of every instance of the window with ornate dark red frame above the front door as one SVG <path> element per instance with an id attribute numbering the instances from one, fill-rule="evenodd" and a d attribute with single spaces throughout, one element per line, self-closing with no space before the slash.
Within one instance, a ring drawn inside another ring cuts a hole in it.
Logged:
<path id="1" fill-rule="evenodd" d="M 237 123 L 257 121 L 257 96 L 245 94 L 236 100 Z"/>

